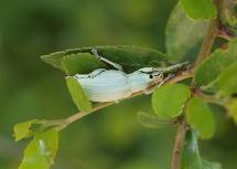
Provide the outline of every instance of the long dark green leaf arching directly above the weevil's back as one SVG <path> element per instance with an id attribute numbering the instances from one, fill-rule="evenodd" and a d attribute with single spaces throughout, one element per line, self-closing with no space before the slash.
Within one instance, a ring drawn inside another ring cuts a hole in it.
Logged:
<path id="1" fill-rule="evenodd" d="M 105 67 L 105 64 L 101 61 L 98 59 L 91 59 L 94 57 L 91 55 L 91 49 L 96 49 L 98 54 L 103 57 L 120 64 L 126 72 L 132 72 L 144 66 L 159 67 L 170 64 L 166 56 L 159 51 L 137 46 L 96 46 L 73 49 L 43 55 L 41 59 L 68 74 L 88 74 L 91 68 Z M 90 67 L 91 65 L 93 67 Z"/>

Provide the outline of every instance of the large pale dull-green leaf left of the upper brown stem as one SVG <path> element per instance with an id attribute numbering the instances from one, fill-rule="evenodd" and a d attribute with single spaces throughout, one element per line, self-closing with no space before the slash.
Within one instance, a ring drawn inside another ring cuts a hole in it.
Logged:
<path id="1" fill-rule="evenodd" d="M 172 61 L 193 61 L 204 39 L 207 21 L 187 18 L 181 4 L 173 9 L 165 30 L 168 57 Z"/>

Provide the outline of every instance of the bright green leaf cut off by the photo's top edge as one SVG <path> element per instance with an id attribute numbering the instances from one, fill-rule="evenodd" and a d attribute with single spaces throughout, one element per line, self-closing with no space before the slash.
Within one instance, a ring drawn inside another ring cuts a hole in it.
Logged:
<path id="1" fill-rule="evenodd" d="M 212 0 L 181 0 L 181 4 L 187 17 L 192 19 L 216 18 L 216 7 Z"/>

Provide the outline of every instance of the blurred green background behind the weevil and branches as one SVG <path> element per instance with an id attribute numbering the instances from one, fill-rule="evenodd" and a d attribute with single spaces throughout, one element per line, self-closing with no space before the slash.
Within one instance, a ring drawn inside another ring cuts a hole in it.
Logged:
<path id="1" fill-rule="evenodd" d="M 0 0 L 0 169 L 17 169 L 26 141 L 13 124 L 63 118 L 77 112 L 64 75 L 40 55 L 68 47 L 142 45 L 165 52 L 165 23 L 175 0 Z M 195 33 L 195 32 L 194 32 Z M 217 134 L 201 154 L 237 167 L 236 126 L 215 108 Z M 54 169 L 168 169 L 175 129 L 150 129 L 138 110 L 152 113 L 150 96 L 121 102 L 61 133 Z"/>

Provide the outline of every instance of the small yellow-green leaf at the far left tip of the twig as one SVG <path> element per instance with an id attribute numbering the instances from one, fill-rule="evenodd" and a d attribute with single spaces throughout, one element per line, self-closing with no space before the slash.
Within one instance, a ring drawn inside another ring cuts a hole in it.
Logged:
<path id="1" fill-rule="evenodd" d="M 13 131 L 14 131 L 14 138 L 15 141 L 19 141 L 23 138 L 26 138 L 31 135 L 31 126 L 32 124 L 34 124 L 36 122 L 36 119 L 31 119 L 28 122 L 23 122 L 23 123 L 19 123 L 17 125 L 14 125 Z"/>

